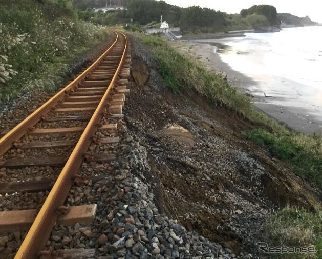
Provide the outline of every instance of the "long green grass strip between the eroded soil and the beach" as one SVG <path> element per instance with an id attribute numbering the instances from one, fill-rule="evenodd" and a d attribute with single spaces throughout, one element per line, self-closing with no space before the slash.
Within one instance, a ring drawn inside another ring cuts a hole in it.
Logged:
<path id="1" fill-rule="evenodd" d="M 322 188 L 320 135 L 306 136 L 289 131 L 256 110 L 244 93 L 229 85 L 225 76 L 208 71 L 204 64 L 180 53 L 165 39 L 154 36 L 141 36 L 140 39 L 151 47 L 160 64 L 159 72 L 171 90 L 180 93 L 183 89 L 193 89 L 213 104 L 224 105 L 249 119 L 258 129 L 244 132 L 245 137 L 267 148 L 273 156 L 288 162 L 296 172 Z"/>

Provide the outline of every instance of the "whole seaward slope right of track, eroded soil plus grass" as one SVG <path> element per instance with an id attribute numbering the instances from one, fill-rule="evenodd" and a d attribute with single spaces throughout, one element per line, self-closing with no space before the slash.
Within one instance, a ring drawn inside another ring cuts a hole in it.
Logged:
<path id="1" fill-rule="evenodd" d="M 146 62 L 149 77 L 140 84 L 138 71 L 146 71 L 133 66 L 124 113 L 138 143 L 136 175 L 159 210 L 233 253 L 218 258 L 271 258 L 259 253 L 259 240 L 318 251 L 286 259 L 321 258 L 322 178 L 314 180 L 321 138 L 289 132 L 255 110 L 226 77 L 179 52 L 183 44 L 138 37 L 131 37 L 133 56 Z"/>

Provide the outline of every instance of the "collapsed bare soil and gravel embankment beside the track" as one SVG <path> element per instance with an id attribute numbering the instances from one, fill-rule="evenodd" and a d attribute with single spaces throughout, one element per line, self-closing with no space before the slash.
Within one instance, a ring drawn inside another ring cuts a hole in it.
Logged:
<path id="1" fill-rule="evenodd" d="M 320 208 L 306 182 L 245 140 L 241 131 L 253 129 L 251 123 L 195 92 L 173 94 L 149 51 L 132 42 L 132 55 L 147 64 L 149 78 L 132 84 L 124 113 L 144 157 L 137 173 L 160 211 L 235 254 L 256 254 L 254 243 L 264 241 L 263 224 L 273 209 Z"/>

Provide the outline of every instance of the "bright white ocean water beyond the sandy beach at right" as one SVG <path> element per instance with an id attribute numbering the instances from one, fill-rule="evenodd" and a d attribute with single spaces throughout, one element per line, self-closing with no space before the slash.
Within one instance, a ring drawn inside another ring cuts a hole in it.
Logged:
<path id="1" fill-rule="evenodd" d="M 255 82 L 265 103 L 305 108 L 322 121 L 322 26 L 206 40 L 223 62 Z M 245 87 L 245 86 L 243 86 Z"/>

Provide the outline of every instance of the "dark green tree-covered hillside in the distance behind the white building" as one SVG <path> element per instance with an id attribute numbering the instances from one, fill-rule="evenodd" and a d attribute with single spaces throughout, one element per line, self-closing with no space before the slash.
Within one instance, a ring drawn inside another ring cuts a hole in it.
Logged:
<path id="1" fill-rule="evenodd" d="M 107 0 L 108 5 L 112 1 Z M 106 13 L 93 12 L 90 9 L 80 10 L 79 16 L 85 21 L 91 21 L 102 25 L 130 23 L 131 18 L 137 25 L 156 25 L 160 23 L 161 14 L 171 26 L 180 26 L 183 33 L 216 33 L 230 30 L 262 29 L 268 26 L 278 27 L 280 19 L 274 6 L 254 5 L 243 9 L 240 14 L 227 14 L 209 8 L 191 6 L 181 8 L 167 4 L 165 1 L 155 0 L 119 0 L 127 10 L 114 10 Z M 91 8 L 94 5 L 103 7 L 106 0 L 73 0 L 74 5 L 83 7 L 88 3 Z M 121 3 L 120 2 L 120 3 Z"/>

